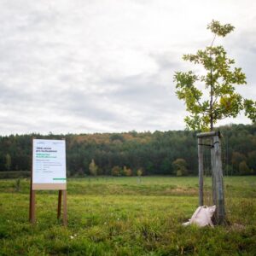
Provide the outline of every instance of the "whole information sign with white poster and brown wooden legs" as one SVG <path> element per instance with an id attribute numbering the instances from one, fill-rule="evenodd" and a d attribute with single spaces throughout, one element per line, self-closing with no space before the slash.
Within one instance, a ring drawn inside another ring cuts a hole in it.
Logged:
<path id="1" fill-rule="evenodd" d="M 29 220 L 36 222 L 36 190 L 59 190 L 57 218 L 67 226 L 67 176 L 65 140 L 33 139 Z"/>

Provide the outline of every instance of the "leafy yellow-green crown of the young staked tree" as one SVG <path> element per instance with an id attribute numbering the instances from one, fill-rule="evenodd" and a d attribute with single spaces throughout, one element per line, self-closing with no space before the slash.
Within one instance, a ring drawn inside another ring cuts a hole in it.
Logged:
<path id="1" fill-rule="evenodd" d="M 235 61 L 227 57 L 223 46 L 213 46 L 216 37 L 225 37 L 234 30 L 230 24 L 221 25 L 212 20 L 207 26 L 213 33 L 212 44 L 199 49 L 195 55 L 183 55 L 184 61 L 201 64 L 205 72 L 197 75 L 192 71 L 176 72 L 176 94 L 186 104 L 190 113 L 184 120 L 192 130 L 212 131 L 219 119 L 236 118 L 241 110 L 256 121 L 256 102 L 243 98 L 235 90 L 236 84 L 247 84 L 240 67 L 233 67 Z M 205 90 L 200 90 L 203 84 Z"/>

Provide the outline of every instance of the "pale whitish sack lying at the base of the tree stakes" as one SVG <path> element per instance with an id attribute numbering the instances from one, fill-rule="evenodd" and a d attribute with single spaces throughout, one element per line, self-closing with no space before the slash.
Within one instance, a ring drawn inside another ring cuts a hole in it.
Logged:
<path id="1" fill-rule="evenodd" d="M 188 222 L 183 223 L 184 226 L 189 224 L 196 224 L 200 227 L 205 227 L 212 224 L 212 216 L 216 210 L 216 206 L 212 207 L 198 207 Z"/>

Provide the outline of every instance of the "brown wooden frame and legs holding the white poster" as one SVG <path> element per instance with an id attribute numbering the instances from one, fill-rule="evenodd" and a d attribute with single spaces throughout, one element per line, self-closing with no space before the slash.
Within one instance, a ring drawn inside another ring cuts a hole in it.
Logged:
<path id="1" fill-rule="evenodd" d="M 61 218 L 61 201 L 63 199 L 62 222 L 64 226 L 67 226 L 67 183 L 33 183 L 33 157 L 34 157 L 33 150 L 34 150 L 35 139 L 36 138 L 32 139 L 32 172 L 31 172 L 31 186 L 30 186 L 29 221 L 32 224 L 36 223 L 36 191 L 37 190 L 59 190 L 57 218 L 58 219 Z M 66 142 L 65 142 L 65 164 L 66 164 Z"/>

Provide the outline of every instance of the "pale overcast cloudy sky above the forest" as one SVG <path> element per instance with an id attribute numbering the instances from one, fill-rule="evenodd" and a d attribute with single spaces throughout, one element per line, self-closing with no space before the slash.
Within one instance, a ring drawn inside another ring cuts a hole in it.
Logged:
<path id="1" fill-rule="evenodd" d="M 183 129 L 173 74 L 212 19 L 236 26 L 217 44 L 255 100 L 254 0 L 0 0 L 0 135 Z"/>

